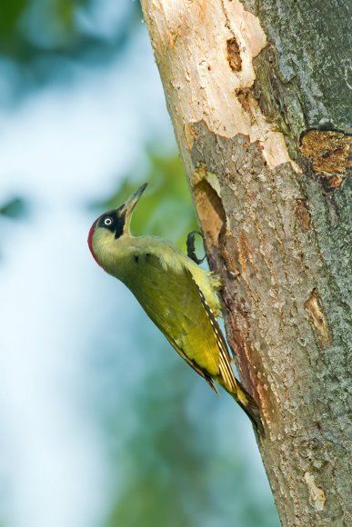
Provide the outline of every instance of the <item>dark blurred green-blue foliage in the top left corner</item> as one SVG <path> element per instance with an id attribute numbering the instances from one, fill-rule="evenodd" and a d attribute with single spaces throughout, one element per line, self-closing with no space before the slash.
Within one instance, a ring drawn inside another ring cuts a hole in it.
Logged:
<path id="1" fill-rule="evenodd" d="M 94 0 L 1 2 L 0 57 L 5 55 L 17 66 L 25 66 L 25 79 L 20 80 L 19 91 L 25 92 L 34 81 L 42 84 L 56 76 L 65 56 L 88 62 L 98 60 L 102 65 L 124 51 L 142 18 L 139 2 L 126 1 L 126 11 L 121 15 L 123 20 L 116 24 L 115 35 L 92 32 L 91 10 L 97 3 Z M 82 19 L 90 22 L 82 24 Z"/>

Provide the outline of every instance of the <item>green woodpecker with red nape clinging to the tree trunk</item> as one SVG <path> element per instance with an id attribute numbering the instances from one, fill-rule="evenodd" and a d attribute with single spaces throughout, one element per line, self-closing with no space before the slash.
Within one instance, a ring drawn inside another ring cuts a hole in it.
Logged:
<path id="1" fill-rule="evenodd" d="M 148 316 L 176 352 L 216 391 L 225 388 L 261 431 L 258 407 L 236 380 L 231 356 L 221 333 L 218 289 L 214 273 L 199 267 L 176 247 L 155 236 L 133 236 L 130 222 L 146 189 L 92 225 L 88 245 L 96 263 L 136 296 Z"/>

